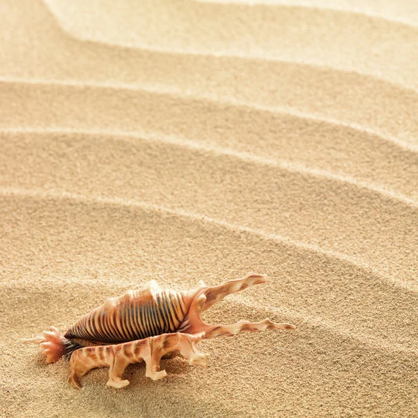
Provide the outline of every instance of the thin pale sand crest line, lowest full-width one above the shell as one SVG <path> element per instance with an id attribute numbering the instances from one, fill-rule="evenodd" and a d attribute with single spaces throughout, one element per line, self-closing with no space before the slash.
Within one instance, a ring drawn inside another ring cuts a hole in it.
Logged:
<path id="1" fill-rule="evenodd" d="M 181 209 L 172 209 L 167 208 L 160 205 L 155 205 L 152 203 L 145 203 L 141 201 L 133 201 L 130 199 L 120 199 L 117 197 L 102 197 L 102 196 L 94 196 L 90 194 L 89 196 L 84 196 L 81 194 L 76 194 L 72 192 L 66 192 L 65 190 L 61 189 L 54 189 L 54 190 L 46 190 L 40 189 L 38 187 L 33 187 L 31 189 L 23 189 L 19 187 L 0 187 L 0 194 L 3 196 L 17 196 L 17 197 L 33 197 L 36 199 L 72 199 L 74 201 L 79 201 L 81 203 L 103 203 L 105 205 L 116 205 L 116 206 L 132 206 L 132 207 L 139 207 L 146 211 L 151 212 L 164 212 L 168 215 L 174 215 L 178 217 L 182 217 L 185 219 L 190 219 L 194 222 L 205 222 L 206 224 L 213 224 L 216 226 L 221 226 L 222 228 L 230 229 L 231 231 L 238 231 L 242 233 L 249 233 L 252 235 L 257 235 L 265 240 L 273 240 L 277 242 L 284 243 L 285 245 L 289 245 L 291 247 L 303 249 L 306 251 L 311 251 L 323 256 L 327 256 L 330 258 L 335 258 L 338 261 L 342 261 L 343 263 L 350 263 L 357 268 L 360 268 L 369 274 L 370 276 L 382 279 L 383 281 L 387 281 L 394 286 L 399 286 L 400 288 L 416 292 L 418 291 L 418 286 L 410 281 L 402 281 L 392 276 L 387 276 L 382 274 L 379 270 L 376 270 L 371 265 L 359 261 L 357 258 L 353 258 L 348 256 L 347 254 L 340 253 L 338 251 L 332 251 L 329 249 L 323 249 L 316 245 L 307 244 L 302 241 L 293 240 L 288 237 L 283 237 L 281 235 L 266 233 L 261 229 L 249 228 L 247 226 L 240 226 L 237 224 L 231 224 L 230 222 L 225 222 L 221 219 L 214 219 L 208 217 L 206 215 L 201 215 L 193 212 L 187 212 Z"/>

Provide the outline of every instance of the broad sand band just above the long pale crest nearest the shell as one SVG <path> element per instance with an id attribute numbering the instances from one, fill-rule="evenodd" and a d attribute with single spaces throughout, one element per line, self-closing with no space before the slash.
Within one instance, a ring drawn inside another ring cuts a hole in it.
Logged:
<path id="1" fill-rule="evenodd" d="M 45 139 L 6 135 L 3 184 L 59 187 L 202 213 L 349 254 L 384 274 L 415 281 L 418 211 L 413 206 L 347 183 L 228 155 L 146 141 L 79 138 L 63 135 L 47 145 Z"/>

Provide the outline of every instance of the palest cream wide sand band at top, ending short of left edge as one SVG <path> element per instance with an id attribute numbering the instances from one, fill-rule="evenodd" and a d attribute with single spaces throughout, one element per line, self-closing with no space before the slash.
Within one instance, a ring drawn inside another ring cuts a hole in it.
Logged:
<path id="1" fill-rule="evenodd" d="M 418 86 L 415 77 L 418 29 L 375 17 L 284 5 L 249 8 L 188 1 L 179 8 L 171 0 L 161 0 L 156 8 L 141 8 L 141 13 L 134 15 L 130 3 L 121 0 L 114 10 L 114 19 L 107 20 L 104 31 L 100 29 L 104 27 L 101 20 L 95 20 L 100 13 L 88 7 L 89 3 L 80 1 L 71 8 L 65 7 L 65 3 L 46 3 L 63 30 L 82 40 L 175 54 L 251 56 L 326 64 Z M 88 21 L 83 16 L 88 16 Z M 124 22 L 127 30 L 118 30 L 118 22 Z M 229 27 L 234 31 L 228 31 Z M 224 42 L 225 38 L 228 42 Z"/>

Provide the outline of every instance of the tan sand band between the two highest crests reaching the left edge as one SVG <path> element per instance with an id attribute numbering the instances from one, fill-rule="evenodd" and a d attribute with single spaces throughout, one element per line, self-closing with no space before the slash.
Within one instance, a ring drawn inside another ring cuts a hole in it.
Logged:
<path id="1" fill-rule="evenodd" d="M 295 166 L 354 178 L 412 201 L 417 199 L 414 184 L 418 178 L 418 153 L 411 147 L 399 146 L 399 141 L 352 126 L 131 88 L 119 91 L 106 86 L 4 82 L 2 96 L 0 126 L 6 128 L 10 127 L 9 119 L 13 125 L 29 125 L 30 129 L 40 129 L 36 128 L 40 125 L 46 129 L 59 126 L 115 132 L 117 126 L 127 132 L 185 137 L 221 148 L 228 138 L 228 148 L 240 153 L 275 157 Z M 15 102 L 15 107 L 10 108 L 9 102 Z M 43 112 L 43 104 L 51 102 L 56 107 Z M 59 111 L 61 102 L 65 102 L 64 114 Z M 146 104 L 138 106 L 137 102 Z M 155 119 L 161 123 L 155 123 Z M 169 123 L 164 123 L 166 120 Z M 391 159 L 387 155 L 392 155 Z"/>

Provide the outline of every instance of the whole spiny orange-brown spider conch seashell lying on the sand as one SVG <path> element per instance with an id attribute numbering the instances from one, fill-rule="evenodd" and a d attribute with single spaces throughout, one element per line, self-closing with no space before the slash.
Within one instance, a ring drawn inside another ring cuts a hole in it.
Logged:
<path id="1" fill-rule="evenodd" d="M 64 335 L 55 327 L 51 331 L 24 343 L 40 343 L 47 363 L 62 356 L 70 358 L 70 378 L 73 387 L 81 387 L 80 379 L 91 369 L 109 366 L 108 386 L 125 387 L 123 371 L 132 363 L 146 363 L 146 376 L 153 380 L 167 376 L 160 371 L 163 355 L 180 352 L 189 364 L 206 367 L 207 354 L 200 353 L 196 343 L 201 339 L 233 336 L 239 332 L 262 330 L 294 330 L 290 324 L 260 323 L 240 320 L 231 325 L 210 325 L 201 314 L 226 295 L 242 291 L 267 280 L 260 274 L 249 273 L 242 279 L 224 281 L 218 286 L 206 286 L 203 281 L 189 291 L 162 289 L 153 280 L 137 291 L 121 297 L 111 297 L 102 306 L 81 318 Z M 112 344 L 84 347 L 72 339 Z"/>

